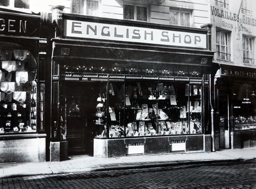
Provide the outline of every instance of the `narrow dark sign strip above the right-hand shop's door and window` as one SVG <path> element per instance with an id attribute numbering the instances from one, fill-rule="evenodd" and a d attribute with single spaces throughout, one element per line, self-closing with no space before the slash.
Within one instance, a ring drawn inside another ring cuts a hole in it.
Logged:
<path id="1" fill-rule="evenodd" d="M 221 75 L 232 75 L 237 77 L 250 77 L 256 78 L 256 72 L 250 72 L 246 70 L 239 70 L 236 68 L 221 68 Z"/>

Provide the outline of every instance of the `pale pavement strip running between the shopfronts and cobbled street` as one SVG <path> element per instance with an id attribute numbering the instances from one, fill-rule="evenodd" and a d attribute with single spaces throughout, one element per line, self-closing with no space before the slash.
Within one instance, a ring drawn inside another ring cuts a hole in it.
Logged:
<path id="1" fill-rule="evenodd" d="M 115 169 L 135 169 L 193 163 L 246 161 L 256 158 L 256 147 L 223 149 L 216 152 L 169 153 L 116 158 L 76 156 L 61 162 L 0 164 L 0 178 L 40 174 L 81 173 Z"/>

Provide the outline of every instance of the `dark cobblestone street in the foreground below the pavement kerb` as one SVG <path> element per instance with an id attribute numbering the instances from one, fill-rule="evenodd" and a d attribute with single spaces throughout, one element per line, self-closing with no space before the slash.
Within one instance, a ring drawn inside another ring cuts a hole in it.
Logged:
<path id="1" fill-rule="evenodd" d="M 2 188 L 256 188 L 256 160 L 1 179 Z"/>

